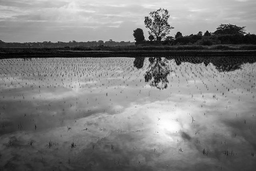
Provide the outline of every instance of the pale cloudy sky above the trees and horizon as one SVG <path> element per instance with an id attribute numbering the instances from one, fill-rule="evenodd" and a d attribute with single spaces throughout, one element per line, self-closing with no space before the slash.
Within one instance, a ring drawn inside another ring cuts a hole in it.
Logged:
<path id="1" fill-rule="evenodd" d="M 167 9 L 168 36 L 216 31 L 220 24 L 246 26 L 256 34 L 256 0 L 1 0 L 0 40 L 4 42 L 131 41 L 145 16 Z"/>

